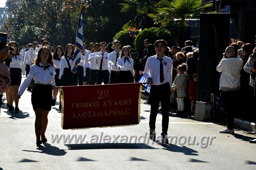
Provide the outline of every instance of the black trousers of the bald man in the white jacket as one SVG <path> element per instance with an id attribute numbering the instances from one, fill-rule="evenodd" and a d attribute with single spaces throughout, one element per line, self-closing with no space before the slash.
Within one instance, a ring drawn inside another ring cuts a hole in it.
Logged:
<path id="1" fill-rule="evenodd" d="M 234 129 L 235 115 L 239 112 L 238 106 L 240 105 L 240 93 L 241 89 L 220 91 L 221 100 L 226 110 L 226 123 L 230 130 Z"/>

